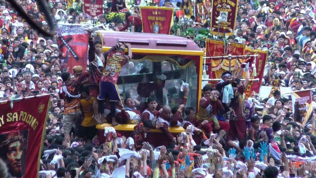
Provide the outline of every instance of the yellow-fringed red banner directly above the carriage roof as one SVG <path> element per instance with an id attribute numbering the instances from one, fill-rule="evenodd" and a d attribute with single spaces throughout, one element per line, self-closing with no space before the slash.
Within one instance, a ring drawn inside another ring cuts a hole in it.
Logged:
<path id="1" fill-rule="evenodd" d="M 173 8 L 141 6 L 144 33 L 168 34 L 173 23 Z"/>

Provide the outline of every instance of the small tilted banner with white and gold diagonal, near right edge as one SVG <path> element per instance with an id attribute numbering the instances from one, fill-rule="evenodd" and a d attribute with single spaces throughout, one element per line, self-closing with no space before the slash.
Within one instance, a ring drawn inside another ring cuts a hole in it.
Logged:
<path id="1" fill-rule="evenodd" d="M 294 121 L 305 126 L 307 121 L 313 116 L 311 90 L 292 92 L 291 97 Z"/>

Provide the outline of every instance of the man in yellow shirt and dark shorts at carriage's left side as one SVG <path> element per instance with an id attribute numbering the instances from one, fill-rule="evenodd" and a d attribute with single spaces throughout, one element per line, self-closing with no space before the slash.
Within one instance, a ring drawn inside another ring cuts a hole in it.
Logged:
<path id="1" fill-rule="evenodd" d="M 93 111 L 93 97 L 89 95 L 89 88 L 83 87 L 81 89 L 81 97 L 80 106 L 81 111 L 84 115 L 82 123 L 78 127 L 76 132 L 77 138 L 85 139 L 85 142 L 90 144 L 92 143 L 92 139 L 96 134 L 95 125 L 97 122 L 92 118 L 94 111 Z"/>

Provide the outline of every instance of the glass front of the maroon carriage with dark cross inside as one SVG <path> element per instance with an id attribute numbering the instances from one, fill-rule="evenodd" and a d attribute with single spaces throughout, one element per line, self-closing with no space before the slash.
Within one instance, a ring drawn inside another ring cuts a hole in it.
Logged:
<path id="1" fill-rule="evenodd" d="M 155 97 L 159 105 L 178 107 L 184 92 L 180 91 L 182 81 L 189 83 L 186 107 L 197 105 L 197 73 L 193 60 L 167 56 L 138 56 L 121 70 L 118 80 L 119 92 L 124 98 L 146 102 Z"/>

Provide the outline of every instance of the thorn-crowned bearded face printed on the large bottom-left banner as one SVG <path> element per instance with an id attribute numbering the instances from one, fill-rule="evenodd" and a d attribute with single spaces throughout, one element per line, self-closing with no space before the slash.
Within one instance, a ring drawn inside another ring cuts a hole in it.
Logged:
<path id="1" fill-rule="evenodd" d="M 10 173 L 21 175 L 21 156 L 22 156 L 22 143 L 16 141 L 10 143 L 8 146 L 7 157 L 9 161 Z"/>

